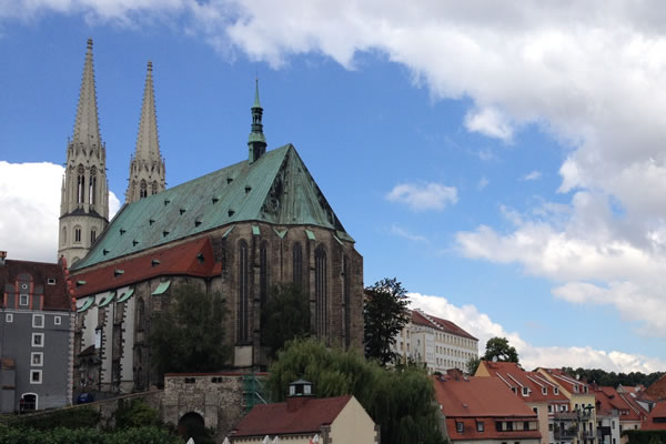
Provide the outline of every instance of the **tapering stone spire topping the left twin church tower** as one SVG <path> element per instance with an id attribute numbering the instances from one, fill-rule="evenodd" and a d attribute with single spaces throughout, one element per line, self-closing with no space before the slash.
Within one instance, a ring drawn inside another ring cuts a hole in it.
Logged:
<path id="1" fill-rule="evenodd" d="M 92 63 L 92 39 L 88 39 L 88 52 L 83 64 L 83 79 L 79 93 L 77 121 L 74 122 L 74 145 L 100 147 L 100 125 L 98 122 L 97 95 L 94 89 L 94 68 Z"/>

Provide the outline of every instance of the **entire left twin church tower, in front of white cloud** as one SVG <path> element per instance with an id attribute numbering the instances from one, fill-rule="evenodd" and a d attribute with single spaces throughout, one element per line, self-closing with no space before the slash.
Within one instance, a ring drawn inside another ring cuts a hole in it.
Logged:
<path id="1" fill-rule="evenodd" d="M 73 138 L 68 141 L 60 199 L 58 258 L 72 265 L 83 258 L 109 223 L 107 149 L 100 138 L 92 39 L 83 64 L 83 79 Z"/>

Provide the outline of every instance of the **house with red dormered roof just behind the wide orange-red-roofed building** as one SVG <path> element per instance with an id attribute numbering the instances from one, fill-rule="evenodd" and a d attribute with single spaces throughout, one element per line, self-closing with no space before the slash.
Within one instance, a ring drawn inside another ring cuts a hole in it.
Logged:
<path id="1" fill-rule="evenodd" d="M 559 387 L 537 372 L 526 372 L 517 363 L 481 361 L 475 376 L 492 376 L 502 381 L 538 417 L 542 444 L 571 443 L 573 436 L 555 421 L 559 412 L 568 411 L 568 398 Z"/>

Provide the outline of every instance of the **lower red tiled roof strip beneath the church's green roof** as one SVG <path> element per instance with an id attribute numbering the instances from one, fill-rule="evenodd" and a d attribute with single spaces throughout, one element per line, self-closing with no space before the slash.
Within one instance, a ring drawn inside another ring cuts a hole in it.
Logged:
<path id="1" fill-rule="evenodd" d="M 203 262 L 198 258 L 200 254 Z M 153 260 L 160 261 L 159 264 L 153 264 Z M 117 274 L 117 270 L 122 270 L 122 274 Z M 77 297 L 81 297 L 157 276 L 184 274 L 205 278 L 221 271 L 221 263 L 214 261 L 211 241 L 205 236 L 148 254 L 114 261 L 94 270 L 73 272 L 75 274 L 72 273 L 72 280 L 85 281 L 85 284 L 77 287 Z"/>

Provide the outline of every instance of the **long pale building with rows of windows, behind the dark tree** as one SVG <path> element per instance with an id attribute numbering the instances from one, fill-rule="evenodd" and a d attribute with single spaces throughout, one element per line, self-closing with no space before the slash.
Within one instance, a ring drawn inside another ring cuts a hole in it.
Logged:
<path id="1" fill-rule="evenodd" d="M 466 371 L 470 359 L 478 356 L 478 340 L 453 322 L 416 309 L 397 334 L 393 350 L 403 360 L 425 364 L 431 374 L 450 369 Z"/>

